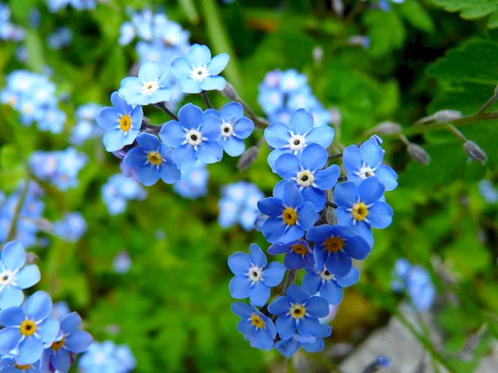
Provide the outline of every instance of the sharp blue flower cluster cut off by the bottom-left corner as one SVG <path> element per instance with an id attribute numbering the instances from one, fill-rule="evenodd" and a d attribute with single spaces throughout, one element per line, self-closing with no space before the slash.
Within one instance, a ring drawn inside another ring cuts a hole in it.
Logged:
<path id="1" fill-rule="evenodd" d="M 0 260 L 1 371 L 68 372 L 76 354 L 93 341 L 79 329 L 80 316 L 71 312 L 60 320 L 51 317 L 52 299 L 45 291 L 36 291 L 23 302 L 22 290 L 40 280 L 40 271 L 36 265 L 26 265 L 19 242 L 7 242 Z"/>

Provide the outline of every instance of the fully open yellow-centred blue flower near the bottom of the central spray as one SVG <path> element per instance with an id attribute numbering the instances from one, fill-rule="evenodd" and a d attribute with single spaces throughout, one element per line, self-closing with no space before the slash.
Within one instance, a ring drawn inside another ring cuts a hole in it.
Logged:
<path id="1" fill-rule="evenodd" d="M 321 331 L 318 318 L 329 314 L 329 302 L 319 296 L 310 296 L 301 286 L 291 285 L 286 295 L 268 304 L 268 312 L 279 315 L 275 327 L 281 339 L 296 333 L 303 337 L 317 337 Z"/>

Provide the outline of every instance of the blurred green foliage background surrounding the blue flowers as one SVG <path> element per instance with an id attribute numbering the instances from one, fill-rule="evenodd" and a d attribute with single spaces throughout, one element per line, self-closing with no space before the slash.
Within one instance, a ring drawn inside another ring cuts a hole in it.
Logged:
<path id="1" fill-rule="evenodd" d="M 12 18 L 27 32 L 26 68 L 53 69 L 51 81 L 58 92 L 69 93 L 60 105 L 69 124 L 60 135 L 39 132 L 19 125 L 17 113 L 1 106 L 0 188 L 13 190 L 24 175 L 25 159 L 13 156 L 12 147 L 20 146 L 25 157 L 36 149 L 64 149 L 76 107 L 109 104 L 110 93 L 136 61 L 131 45 L 117 43 L 130 9 L 165 11 L 191 32 L 192 43 L 208 45 L 213 54 L 228 52 L 224 75 L 259 115 L 257 85 L 268 71 L 295 68 L 306 74 L 313 93 L 340 113 L 334 141 L 341 148 L 364 140 L 365 132 L 382 121 L 408 128 L 437 110 L 471 114 L 484 104 L 498 83 L 494 3 L 406 0 L 382 11 L 368 1 L 346 0 L 342 17 L 332 10 L 332 1 L 319 0 L 109 0 L 94 11 L 68 7 L 55 14 L 43 1 L 12 0 Z M 29 26 L 33 7 L 41 12 L 38 29 Z M 59 51 L 50 50 L 46 36 L 59 26 L 71 28 L 73 40 Z M 370 37 L 370 46 L 352 45 L 354 35 Z M 320 61 L 313 58 L 316 47 L 323 50 Z M 14 57 L 15 48 L 13 42 L 0 44 L 3 82 L 10 71 L 24 68 Z M 211 98 L 217 107 L 227 102 L 221 94 Z M 201 103 L 197 96 L 187 100 Z M 153 123 L 168 119 L 151 108 L 146 114 Z M 393 223 L 374 232 L 373 252 L 360 264 L 360 283 L 345 291 L 326 349 L 352 341 L 352 334 L 361 330 L 362 337 L 353 339 L 357 344 L 396 312 L 400 298 L 389 287 L 391 268 L 405 257 L 433 275 L 443 351 L 460 351 L 473 332 L 488 325 L 471 361 L 449 358 L 455 372 L 473 372 L 489 353 L 498 335 L 498 206 L 485 201 L 478 182 L 485 177 L 498 181 L 498 123 L 473 123 L 461 130 L 487 153 L 484 166 L 470 161 L 461 141 L 444 129 L 409 136 L 431 156 L 428 166 L 411 160 L 398 137 L 382 136 L 384 159 L 399 175 L 399 187 L 388 195 Z M 255 130 L 247 144 L 261 135 Z M 119 172 L 119 160 L 104 151 L 99 139 L 86 142 L 81 151 L 90 161 L 79 186 L 66 193 L 48 188 L 44 216 L 55 220 L 65 211 L 81 211 L 88 231 L 78 243 L 50 237 L 47 248 L 34 250 L 42 273 L 37 288 L 67 300 L 97 340 L 128 344 L 137 359 L 136 372 L 266 372 L 285 366 L 276 351 L 250 348 L 230 311 L 228 256 L 247 251 L 253 242 L 264 249 L 268 245 L 258 232 L 223 230 L 217 222 L 223 185 L 247 180 L 271 193 L 278 177 L 266 164 L 268 150 L 243 173 L 230 157 L 209 166 L 204 198 L 183 199 L 158 183 L 147 188 L 145 200 L 130 202 L 124 214 L 114 217 L 107 213 L 100 187 Z M 157 237 L 158 229 L 164 238 Z M 133 263 L 125 275 L 112 268 L 121 250 L 129 252 Z M 438 275 L 433 265 L 438 259 L 455 279 L 452 284 Z M 457 295 L 456 303 L 446 301 L 448 292 Z M 119 332 L 110 326 L 119 326 Z M 324 371 L 337 363 L 319 355 L 309 358 Z"/>

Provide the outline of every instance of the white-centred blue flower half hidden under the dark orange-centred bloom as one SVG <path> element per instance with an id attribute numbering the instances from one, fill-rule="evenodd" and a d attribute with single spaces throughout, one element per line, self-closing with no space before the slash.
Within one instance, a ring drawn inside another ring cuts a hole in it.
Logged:
<path id="1" fill-rule="evenodd" d="M 303 277 L 302 287 L 310 294 L 320 291 L 320 296 L 327 299 L 332 305 L 341 303 L 343 298 L 343 287 L 354 285 L 360 279 L 360 271 L 351 268 L 349 274 L 344 277 L 334 276 L 327 267 L 321 271 L 309 271 Z"/>

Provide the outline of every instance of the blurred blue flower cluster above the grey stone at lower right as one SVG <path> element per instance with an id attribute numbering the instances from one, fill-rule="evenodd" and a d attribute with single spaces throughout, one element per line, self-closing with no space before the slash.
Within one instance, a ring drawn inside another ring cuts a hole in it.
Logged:
<path id="1" fill-rule="evenodd" d="M 427 311 L 431 308 L 436 288 L 426 270 L 413 266 L 406 259 L 401 258 L 394 263 L 392 276 L 392 289 L 396 292 L 406 291 L 415 309 Z"/>

